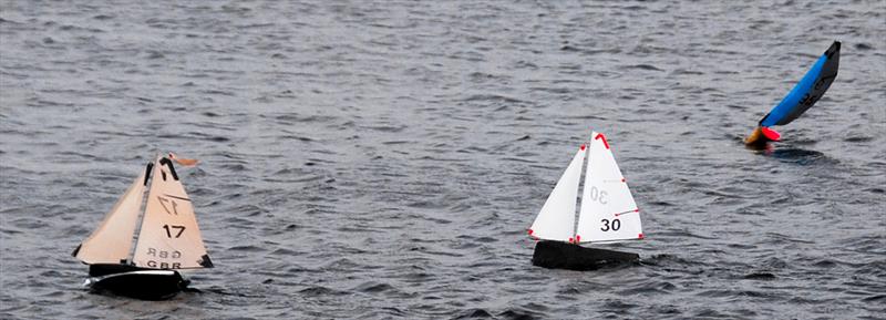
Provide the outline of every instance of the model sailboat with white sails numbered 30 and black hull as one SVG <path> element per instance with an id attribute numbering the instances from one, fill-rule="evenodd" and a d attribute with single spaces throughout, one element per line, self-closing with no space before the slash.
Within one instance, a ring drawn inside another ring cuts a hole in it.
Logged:
<path id="1" fill-rule="evenodd" d="M 639 260 L 636 254 L 580 246 L 643 238 L 640 209 L 606 136 L 594 132 L 591 137 L 587 146 L 583 144 L 576 152 L 529 227 L 529 236 L 540 240 L 533 255 L 535 266 L 593 270 L 611 262 Z M 585 184 L 576 215 L 583 167 Z"/>

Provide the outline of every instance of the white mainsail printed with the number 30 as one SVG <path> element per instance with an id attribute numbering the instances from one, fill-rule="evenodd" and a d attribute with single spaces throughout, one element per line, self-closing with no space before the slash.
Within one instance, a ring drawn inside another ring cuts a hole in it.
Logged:
<path id="1" fill-rule="evenodd" d="M 591 133 L 576 237 L 579 242 L 642 239 L 640 211 L 609 143 Z"/>

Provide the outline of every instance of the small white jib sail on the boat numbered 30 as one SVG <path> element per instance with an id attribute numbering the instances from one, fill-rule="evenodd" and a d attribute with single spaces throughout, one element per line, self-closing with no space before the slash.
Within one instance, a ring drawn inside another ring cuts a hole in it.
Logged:
<path id="1" fill-rule="evenodd" d="M 529 227 L 529 235 L 545 240 L 571 241 L 575 228 L 575 208 L 578 200 L 578 182 L 585 162 L 585 146 L 581 146 L 566 172 L 547 197 L 545 205 Z"/>

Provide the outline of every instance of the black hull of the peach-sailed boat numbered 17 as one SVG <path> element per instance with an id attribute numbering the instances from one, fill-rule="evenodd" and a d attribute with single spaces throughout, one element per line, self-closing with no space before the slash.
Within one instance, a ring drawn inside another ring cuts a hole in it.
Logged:
<path id="1" fill-rule="evenodd" d="M 134 270 L 92 278 L 90 289 L 142 300 L 164 300 L 175 297 L 190 281 L 175 270 Z"/>

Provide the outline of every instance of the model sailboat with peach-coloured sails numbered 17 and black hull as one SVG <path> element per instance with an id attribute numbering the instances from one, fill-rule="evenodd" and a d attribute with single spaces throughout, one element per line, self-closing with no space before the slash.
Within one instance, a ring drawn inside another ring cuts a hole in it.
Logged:
<path id="1" fill-rule="evenodd" d="M 138 237 L 133 239 L 136 226 Z M 147 164 L 73 256 L 90 265 L 86 285 L 94 291 L 147 300 L 167 299 L 186 288 L 189 281 L 177 270 L 213 267 L 194 207 L 166 157 Z"/>

